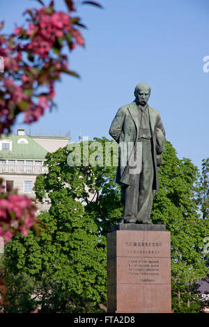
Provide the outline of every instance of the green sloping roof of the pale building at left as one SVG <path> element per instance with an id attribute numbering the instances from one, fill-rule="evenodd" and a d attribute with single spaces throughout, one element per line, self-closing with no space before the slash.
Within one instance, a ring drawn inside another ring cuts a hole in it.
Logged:
<path id="1" fill-rule="evenodd" d="M 17 143 L 25 138 L 26 143 Z M 12 150 L 0 150 L 0 159 L 45 159 L 47 150 L 27 135 L 1 135 L 0 141 L 12 141 Z"/>

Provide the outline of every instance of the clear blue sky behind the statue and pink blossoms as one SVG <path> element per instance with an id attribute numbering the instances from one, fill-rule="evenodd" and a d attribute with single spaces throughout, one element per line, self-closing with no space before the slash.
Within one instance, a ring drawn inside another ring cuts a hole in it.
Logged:
<path id="1" fill-rule="evenodd" d="M 81 3 L 82 1 L 77 1 Z M 77 8 L 88 26 L 86 47 L 70 54 L 70 68 L 81 78 L 63 76 L 56 85 L 58 109 L 31 125 L 31 134 L 65 134 L 72 141 L 82 136 L 109 136 L 109 126 L 120 106 L 132 102 L 139 82 L 151 87 L 150 106 L 160 111 L 162 122 L 178 157 L 201 167 L 208 157 L 209 56 L 208 0 L 99 0 L 104 9 Z M 49 1 L 46 1 L 49 3 Z M 55 0 L 56 8 L 65 8 Z M 3 31 L 23 22 L 25 8 L 39 6 L 31 0 L 1 0 Z M 18 119 L 13 132 L 29 125 Z"/>

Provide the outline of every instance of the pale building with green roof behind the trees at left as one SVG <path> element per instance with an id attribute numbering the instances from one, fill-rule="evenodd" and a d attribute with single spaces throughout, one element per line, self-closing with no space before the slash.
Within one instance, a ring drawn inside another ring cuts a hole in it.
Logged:
<path id="1" fill-rule="evenodd" d="M 0 178 L 6 190 L 29 196 L 38 207 L 38 212 L 50 207 L 48 196 L 40 203 L 33 191 L 36 177 L 47 173 L 44 166 L 47 152 L 54 152 L 68 144 L 70 137 L 29 136 L 24 129 L 17 135 L 2 135 L 0 138 Z"/>

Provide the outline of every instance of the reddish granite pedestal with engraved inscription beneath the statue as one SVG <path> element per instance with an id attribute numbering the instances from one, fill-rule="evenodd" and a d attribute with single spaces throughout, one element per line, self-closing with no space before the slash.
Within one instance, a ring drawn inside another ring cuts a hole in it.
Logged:
<path id="1" fill-rule="evenodd" d="M 171 312 L 170 232 L 117 224 L 107 235 L 107 311 Z"/>

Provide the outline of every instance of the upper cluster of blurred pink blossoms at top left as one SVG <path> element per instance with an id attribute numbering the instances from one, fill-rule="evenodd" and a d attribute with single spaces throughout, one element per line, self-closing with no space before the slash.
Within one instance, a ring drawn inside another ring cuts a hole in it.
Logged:
<path id="1" fill-rule="evenodd" d="M 68 57 L 61 54 L 65 35 L 69 32 L 72 34 L 70 49 L 75 49 L 75 45 L 84 45 L 82 35 L 70 22 L 69 13 L 56 12 L 54 8 L 49 11 L 45 6 L 38 10 L 32 8 L 26 12 L 29 13 L 28 26 L 24 28 L 17 26 L 11 35 L 12 38 L 0 35 L 0 55 L 5 59 L 6 72 L 0 81 L 0 88 L 3 90 L 3 97 L 0 99 L 0 134 L 10 132 L 10 126 L 23 110 L 20 106 L 23 100 L 28 103 L 24 109 L 24 121 L 28 123 L 39 120 L 45 109 L 52 106 L 52 99 L 55 96 L 54 81 L 59 79 L 62 69 L 68 67 Z M 58 54 L 51 51 L 56 45 L 57 38 L 63 38 L 63 41 L 59 40 L 60 48 L 56 46 Z M 32 57 L 35 57 L 34 61 L 31 60 Z M 25 60 L 26 58 L 30 63 Z M 39 71 L 37 67 L 42 68 Z M 51 83 L 48 95 L 45 98 L 40 97 L 36 102 L 34 95 L 41 93 L 42 87 L 45 88 L 48 83 Z M 32 86 L 31 93 L 24 92 L 26 88 Z M 15 210 L 17 211 L 17 208 Z"/>

